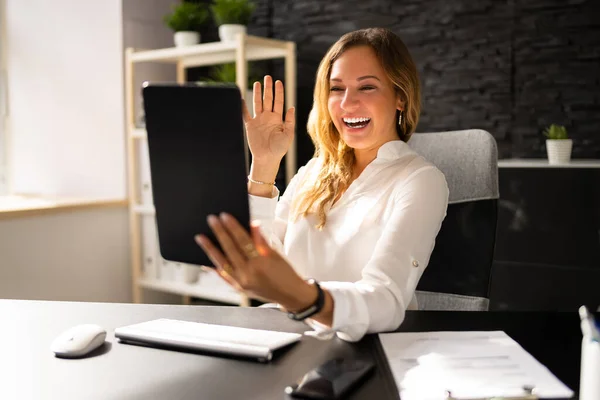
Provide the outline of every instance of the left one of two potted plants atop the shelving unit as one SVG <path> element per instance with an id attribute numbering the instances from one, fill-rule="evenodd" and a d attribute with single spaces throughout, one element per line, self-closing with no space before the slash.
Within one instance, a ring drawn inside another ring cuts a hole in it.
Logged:
<path id="1" fill-rule="evenodd" d="M 206 5 L 182 2 L 173 6 L 173 12 L 164 16 L 164 22 L 175 32 L 175 46 L 190 46 L 200 43 L 198 31 L 208 17 Z"/>

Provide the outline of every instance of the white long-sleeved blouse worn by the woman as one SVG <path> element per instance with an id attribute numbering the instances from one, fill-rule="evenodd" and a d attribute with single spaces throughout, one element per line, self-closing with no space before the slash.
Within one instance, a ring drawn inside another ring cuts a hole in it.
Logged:
<path id="1" fill-rule="evenodd" d="M 315 330 L 348 341 L 394 330 L 405 310 L 417 307 L 415 288 L 446 216 L 446 179 L 405 142 L 385 143 L 319 231 L 315 215 L 294 221 L 290 206 L 320 165 L 313 158 L 300 168 L 279 200 L 279 192 L 271 199 L 249 196 L 251 216 L 300 276 L 331 293 L 332 327 L 307 320 Z"/>

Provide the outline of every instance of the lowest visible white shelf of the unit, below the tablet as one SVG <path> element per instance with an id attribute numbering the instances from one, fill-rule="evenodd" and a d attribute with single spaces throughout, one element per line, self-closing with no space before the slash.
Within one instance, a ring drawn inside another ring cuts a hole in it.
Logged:
<path id="1" fill-rule="evenodd" d="M 162 281 L 160 279 L 144 278 L 138 280 L 138 285 L 146 289 L 175 293 L 182 296 L 199 297 L 227 304 L 239 305 L 242 302 L 242 296 L 232 289 L 224 288 L 222 285 L 215 286 L 214 282 L 205 282 L 203 284 L 203 278 L 206 277 L 206 273 L 201 274 L 198 283 Z M 210 281 L 209 279 L 204 280 Z"/>

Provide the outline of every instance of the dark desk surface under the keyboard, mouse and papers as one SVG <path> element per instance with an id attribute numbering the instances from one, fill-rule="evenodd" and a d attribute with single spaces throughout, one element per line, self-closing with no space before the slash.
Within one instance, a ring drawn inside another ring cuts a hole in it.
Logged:
<path id="1" fill-rule="evenodd" d="M 374 335 L 359 343 L 303 337 L 269 364 L 115 340 L 115 328 L 161 317 L 306 330 L 272 309 L 0 300 L 0 399 L 286 399 L 287 384 L 334 356 L 350 354 L 378 360 L 375 373 L 351 399 L 397 398 Z M 81 323 L 104 326 L 109 343 L 89 358 L 55 358 L 52 340 Z M 408 312 L 399 330 L 504 330 L 571 389 L 579 385 L 576 313 Z"/>

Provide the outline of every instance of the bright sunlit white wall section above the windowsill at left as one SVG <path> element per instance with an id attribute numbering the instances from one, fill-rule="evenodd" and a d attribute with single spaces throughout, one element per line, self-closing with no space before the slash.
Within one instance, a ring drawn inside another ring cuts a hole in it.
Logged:
<path id="1" fill-rule="evenodd" d="M 5 0 L 16 193 L 125 197 L 121 0 Z"/>

